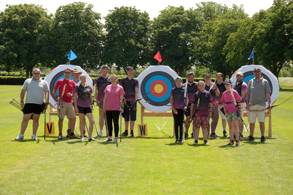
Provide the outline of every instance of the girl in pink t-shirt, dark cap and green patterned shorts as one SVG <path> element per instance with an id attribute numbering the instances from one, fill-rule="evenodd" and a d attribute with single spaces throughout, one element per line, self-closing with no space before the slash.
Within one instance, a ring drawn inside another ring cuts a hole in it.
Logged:
<path id="1" fill-rule="evenodd" d="M 242 100 L 239 96 L 238 92 L 231 88 L 232 81 L 230 79 L 226 79 L 224 81 L 226 91 L 222 94 L 221 102 L 223 102 L 223 108 L 225 111 L 226 120 L 229 125 L 229 134 L 230 134 L 230 142 L 227 145 L 234 145 L 233 140 L 233 127 L 235 130 L 236 137 L 236 146 L 240 146 L 239 142 L 239 128 L 238 128 L 238 120 L 240 119 L 241 107 L 235 106 L 233 97 L 235 99 L 236 104 Z M 232 97 L 233 93 L 233 97 Z"/>

